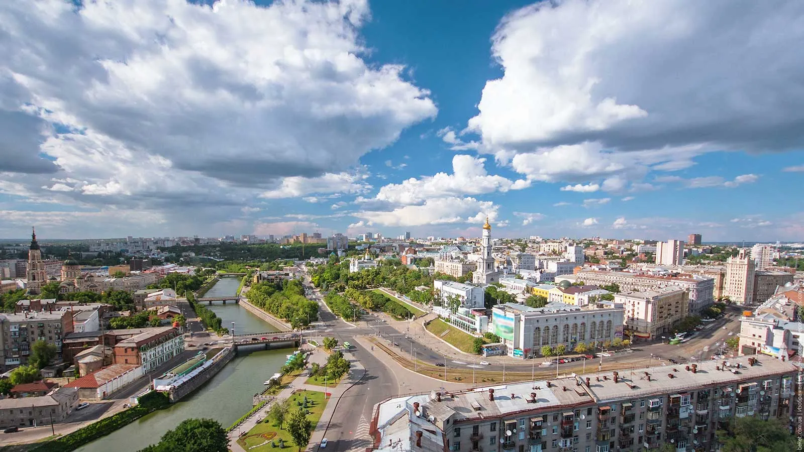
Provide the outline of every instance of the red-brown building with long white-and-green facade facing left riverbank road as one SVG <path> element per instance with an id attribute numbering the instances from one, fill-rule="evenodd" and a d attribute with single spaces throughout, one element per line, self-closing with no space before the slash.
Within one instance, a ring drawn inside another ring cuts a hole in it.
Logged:
<path id="1" fill-rule="evenodd" d="M 114 364 L 142 365 L 148 373 L 184 351 L 184 336 L 178 328 L 158 327 L 121 340 L 113 347 Z"/>

